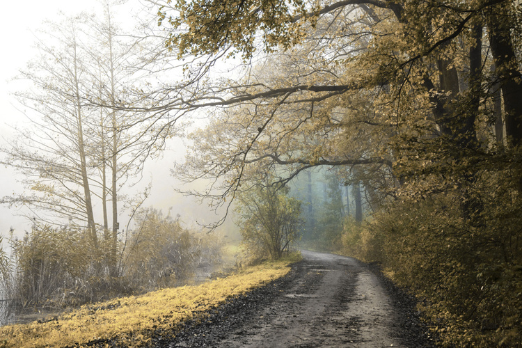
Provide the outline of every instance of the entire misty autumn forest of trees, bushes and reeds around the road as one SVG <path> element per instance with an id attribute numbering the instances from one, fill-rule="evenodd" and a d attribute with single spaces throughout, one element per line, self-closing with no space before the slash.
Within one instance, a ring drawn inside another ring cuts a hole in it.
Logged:
<path id="1" fill-rule="evenodd" d="M 377 262 L 441 345 L 520 344 L 519 0 L 145 2 L 133 33 L 108 3 L 48 26 L 20 73 L 38 132 L 1 149 L 26 188 L 2 203 L 41 214 L 0 251 L 9 297 L 171 285 L 219 262 L 231 218 L 248 262 L 297 242 Z M 209 233 L 133 191 L 176 137 Z"/>

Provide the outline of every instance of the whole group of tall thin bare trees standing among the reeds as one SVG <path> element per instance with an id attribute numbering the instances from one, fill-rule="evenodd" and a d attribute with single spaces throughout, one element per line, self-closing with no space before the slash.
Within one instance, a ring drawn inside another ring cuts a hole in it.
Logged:
<path id="1" fill-rule="evenodd" d="M 122 188 L 141 180 L 145 159 L 155 151 L 150 142 L 164 133 L 143 112 L 118 109 L 147 81 L 136 82 L 141 75 L 129 67 L 138 61 L 137 44 L 120 35 L 108 4 L 101 21 L 83 15 L 49 28 L 40 36 L 40 56 L 20 76 L 33 89 L 16 93 L 29 109 L 29 127 L 2 149 L 3 163 L 25 177 L 28 192 L 3 203 L 25 205 L 31 219 L 52 226 L 85 224 L 93 253 L 103 255 L 103 267 L 118 276 L 120 210 L 148 193 L 128 198 Z M 95 212 L 98 202 L 103 217 Z"/>

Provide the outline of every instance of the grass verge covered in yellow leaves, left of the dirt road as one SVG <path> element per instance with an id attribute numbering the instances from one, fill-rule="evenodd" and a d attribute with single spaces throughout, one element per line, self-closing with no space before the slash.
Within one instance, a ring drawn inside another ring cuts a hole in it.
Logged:
<path id="1" fill-rule="evenodd" d="M 0 328 L 0 347 L 87 347 L 116 342 L 125 347 L 148 345 L 152 334 L 173 333 L 188 319 L 205 316 L 231 296 L 285 276 L 297 258 L 248 267 L 226 278 L 198 286 L 168 288 L 129 296 L 63 314 L 48 322 Z"/>

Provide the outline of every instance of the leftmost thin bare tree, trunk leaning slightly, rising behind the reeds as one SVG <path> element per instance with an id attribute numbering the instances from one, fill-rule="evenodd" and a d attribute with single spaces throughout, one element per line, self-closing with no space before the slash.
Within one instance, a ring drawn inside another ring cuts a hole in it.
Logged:
<path id="1" fill-rule="evenodd" d="M 86 223 L 90 242 L 97 248 L 93 212 L 92 169 L 88 143 L 92 140 L 86 119 L 91 111 L 83 102 L 87 72 L 85 52 L 79 46 L 79 26 L 66 20 L 54 26 L 54 45 L 40 42 L 38 69 L 22 73 L 34 90 L 17 93 L 22 104 L 34 111 L 33 127 L 23 129 L 3 152 L 4 164 L 13 166 L 26 178 L 29 194 L 3 198 L 10 204 L 31 205 L 51 213 L 48 221 L 61 224 L 67 219 Z M 43 218 L 46 219 L 46 218 Z"/>

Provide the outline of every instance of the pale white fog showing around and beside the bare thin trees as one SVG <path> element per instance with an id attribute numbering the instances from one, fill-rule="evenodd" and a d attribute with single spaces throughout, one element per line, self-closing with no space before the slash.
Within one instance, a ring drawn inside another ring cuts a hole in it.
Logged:
<path id="1" fill-rule="evenodd" d="M 116 19 L 121 26 L 133 26 L 133 15 L 137 8 L 142 8 L 140 0 L 123 1 L 125 6 L 118 6 Z M 0 70 L 0 144 L 6 144 L 13 137 L 13 127 L 24 125 L 26 116 L 24 107 L 17 104 L 13 95 L 15 88 L 20 88 L 18 81 L 13 81 L 20 69 L 23 69 L 35 55 L 33 48 L 38 29 L 45 29 L 46 20 L 53 21 L 59 13 L 76 15 L 81 11 L 100 10 L 100 1 L 70 1 L 70 0 L 28 0 L 24 6 L 15 2 L 2 4 L 0 11 L 0 29 L 2 35 L 2 68 Z M 6 35 L 9 33 L 9 35 Z M 17 85 L 18 84 L 18 85 Z M 171 214 L 180 214 L 181 220 L 186 226 L 196 227 L 196 221 L 210 223 L 214 214 L 209 214 L 205 205 L 198 205 L 194 200 L 182 196 L 175 189 L 184 189 L 182 184 L 171 176 L 171 168 L 175 161 L 182 161 L 184 155 L 184 143 L 181 139 L 172 139 L 168 142 L 164 153 L 154 160 L 149 160 L 143 171 L 143 179 L 135 187 L 122 194 L 132 195 L 143 190 L 148 184 L 152 184 L 149 198 L 143 203 L 143 207 L 155 207 L 165 213 L 171 209 Z M 0 167 L 0 197 L 10 196 L 14 192 L 20 193 L 23 187 L 19 184 L 21 177 L 16 177 L 12 168 Z M 134 190 L 134 191 L 133 191 Z M 129 212 L 121 212 L 120 226 L 125 227 L 129 221 Z M 0 235 L 6 236 L 10 229 L 15 230 L 15 235 L 21 236 L 26 230 L 30 230 L 31 223 L 24 217 L 38 216 L 38 212 L 28 209 L 9 208 L 0 205 Z M 215 216 L 216 220 L 219 219 Z"/>

